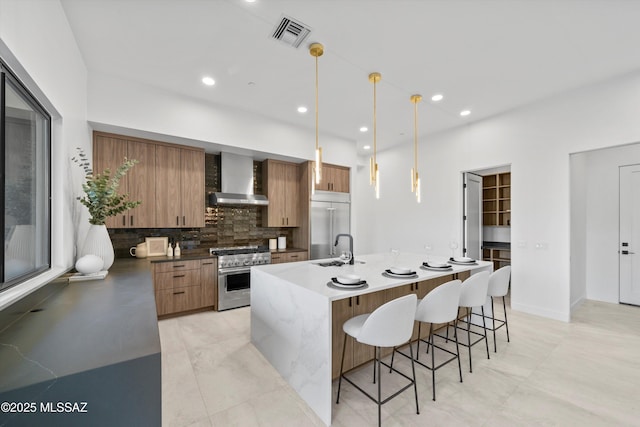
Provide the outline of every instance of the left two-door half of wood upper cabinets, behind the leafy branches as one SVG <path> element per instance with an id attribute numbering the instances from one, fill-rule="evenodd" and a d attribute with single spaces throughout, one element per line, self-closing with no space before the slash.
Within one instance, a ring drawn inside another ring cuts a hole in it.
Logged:
<path id="1" fill-rule="evenodd" d="M 95 172 L 102 173 L 108 168 L 113 176 L 125 157 L 135 159 L 138 163 L 120 180 L 119 192 L 128 193 L 129 200 L 142 203 L 137 208 L 107 218 L 107 228 L 155 227 L 155 145 L 97 133 L 94 135 Z"/>

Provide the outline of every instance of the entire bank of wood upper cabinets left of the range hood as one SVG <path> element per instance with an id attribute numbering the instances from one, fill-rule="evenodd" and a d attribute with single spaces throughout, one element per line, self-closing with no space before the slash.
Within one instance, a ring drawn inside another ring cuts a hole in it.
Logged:
<path id="1" fill-rule="evenodd" d="M 111 171 L 138 160 L 120 182 L 142 204 L 107 219 L 108 228 L 204 227 L 204 150 L 94 132 L 93 164 Z"/>

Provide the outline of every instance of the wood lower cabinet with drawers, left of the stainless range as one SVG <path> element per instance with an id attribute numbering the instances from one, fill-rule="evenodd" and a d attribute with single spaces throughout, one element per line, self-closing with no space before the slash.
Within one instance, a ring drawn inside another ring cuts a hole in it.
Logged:
<path id="1" fill-rule="evenodd" d="M 202 308 L 215 309 L 216 260 L 153 263 L 153 285 L 158 317 Z"/>

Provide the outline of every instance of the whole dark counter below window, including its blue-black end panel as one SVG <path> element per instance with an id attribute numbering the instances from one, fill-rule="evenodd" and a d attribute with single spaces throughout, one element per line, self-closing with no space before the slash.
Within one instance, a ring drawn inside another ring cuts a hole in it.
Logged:
<path id="1" fill-rule="evenodd" d="M 2 426 L 159 426 L 161 376 L 147 260 L 54 280 L 0 311 Z"/>

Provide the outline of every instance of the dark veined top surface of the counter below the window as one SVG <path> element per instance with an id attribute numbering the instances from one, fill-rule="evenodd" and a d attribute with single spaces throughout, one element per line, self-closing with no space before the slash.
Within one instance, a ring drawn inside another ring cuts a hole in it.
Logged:
<path id="1" fill-rule="evenodd" d="M 104 280 L 59 287 L 4 310 L 0 392 L 160 353 L 149 262 L 117 259 Z"/>

